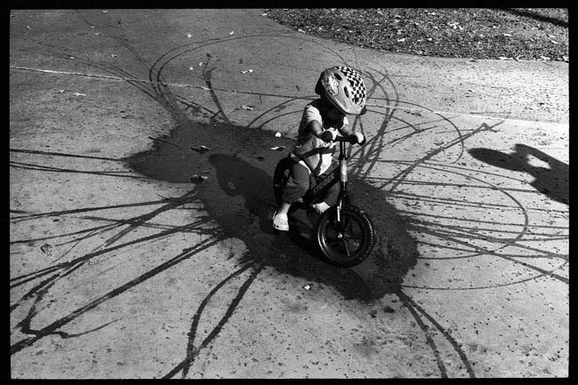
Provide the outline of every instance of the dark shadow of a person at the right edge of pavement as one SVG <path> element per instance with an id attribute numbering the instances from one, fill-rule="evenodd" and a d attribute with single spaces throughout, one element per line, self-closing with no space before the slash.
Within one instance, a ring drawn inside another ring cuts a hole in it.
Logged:
<path id="1" fill-rule="evenodd" d="M 568 164 L 544 154 L 537 148 L 516 144 L 514 152 L 507 154 L 490 148 L 471 148 L 471 156 L 507 170 L 527 172 L 534 177 L 531 185 L 551 199 L 569 205 Z M 530 164 L 531 156 L 548 164 L 542 167 Z"/>

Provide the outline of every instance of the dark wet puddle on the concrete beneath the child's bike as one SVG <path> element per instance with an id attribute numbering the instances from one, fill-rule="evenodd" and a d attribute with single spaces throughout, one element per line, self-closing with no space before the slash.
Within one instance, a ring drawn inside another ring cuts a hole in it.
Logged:
<path id="1" fill-rule="evenodd" d="M 194 199 L 200 199 L 219 223 L 224 237 L 245 243 L 246 260 L 333 286 L 346 299 L 371 301 L 397 292 L 405 273 L 416 262 L 415 241 L 395 208 L 387 203 L 386 194 L 355 175 L 349 177 L 349 192 L 356 205 L 371 216 L 378 236 L 366 261 L 352 269 L 341 269 L 318 260 L 309 242 L 310 223 L 299 212 L 296 215 L 303 221 L 300 231 L 276 234 L 270 220 L 275 210 L 272 174 L 292 145 L 293 140 L 277 138 L 269 131 L 187 122 L 170 135 L 156 138 L 150 150 L 124 161 L 135 172 L 155 180 L 191 183 L 193 175 L 206 176 L 195 182 L 198 194 Z M 281 146 L 285 147 L 282 151 L 270 149 Z"/>

